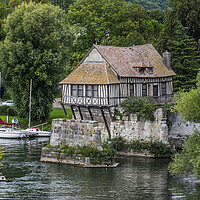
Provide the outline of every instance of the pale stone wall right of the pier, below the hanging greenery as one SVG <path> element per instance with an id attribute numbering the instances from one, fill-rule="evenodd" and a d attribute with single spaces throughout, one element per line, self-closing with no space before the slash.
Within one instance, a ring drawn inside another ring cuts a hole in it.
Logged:
<path id="1" fill-rule="evenodd" d="M 131 115 L 111 122 L 111 137 L 121 136 L 127 141 L 162 141 L 168 144 L 168 127 L 166 118 L 163 117 L 163 109 L 158 108 L 155 115 L 155 121 L 138 120 L 136 115 Z"/>

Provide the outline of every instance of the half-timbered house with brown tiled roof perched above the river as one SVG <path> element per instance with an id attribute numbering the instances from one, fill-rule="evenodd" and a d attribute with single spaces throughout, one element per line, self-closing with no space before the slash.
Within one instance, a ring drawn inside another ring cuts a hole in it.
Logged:
<path id="1" fill-rule="evenodd" d="M 170 101 L 173 76 L 170 53 L 163 57 L 151 44 L 113 47 L 94 45 L 79 65 L 60 82 L 62 105 L 72 108 L 109 108 L 127 96 L 150 96 L 156 102 Z M 102 113 L 103 114 L 103 113 Z M 82 115 L 81 115 L 81 118 Z"/>

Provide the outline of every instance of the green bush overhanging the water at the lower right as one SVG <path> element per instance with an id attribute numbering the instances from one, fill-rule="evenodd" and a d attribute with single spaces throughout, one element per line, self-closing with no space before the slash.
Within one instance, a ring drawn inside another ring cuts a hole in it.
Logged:
<path id="1" fill-rule="evenodd" d="M 192 173 L 200 176 L 200 132 L 194 131 L 186 140 L 183 151 L 173 158 L 168 166 L 169 172 L 175 174 Z"/>

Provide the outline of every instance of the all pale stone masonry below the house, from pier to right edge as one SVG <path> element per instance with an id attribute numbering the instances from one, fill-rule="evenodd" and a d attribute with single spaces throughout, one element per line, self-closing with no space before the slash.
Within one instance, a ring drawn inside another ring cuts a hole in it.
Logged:
<path id="1" fill-rule="evenodd" d="M 83 110 L 84 111 L 84 110 Z M 94 114 L 96 113 L 96 114 Z M 83 112 L 87 115 L 87 109 Z M 93 110 L 94 116 L 102 119 L 100 110 Z M 107 113 L 107 117 L 108 117 Z M 110 121 L 111 138 L 123 137 L 127 141 L 161 141 L 168 144 L 171 138 L 176 144 L 182 146 L 187 135 L 191 135 L 194 129 L 200 131 L 200 124 L 183 123 L 179 115 L 171 114 L 169 118 L 164 117 L 163 109 L 158 108 L 154 113 L 155 121 L 138 120 L 136 115 L 127 117 L 116 117 L 114 122 Z M 87 116 L 89 118 L 89 115 Z M 108 139 L 105 124 L 100 120 L 64 120 L 54 119 L 52 122 L 52 136 L 50 144 L 55 145 L 100 145 Z"/>

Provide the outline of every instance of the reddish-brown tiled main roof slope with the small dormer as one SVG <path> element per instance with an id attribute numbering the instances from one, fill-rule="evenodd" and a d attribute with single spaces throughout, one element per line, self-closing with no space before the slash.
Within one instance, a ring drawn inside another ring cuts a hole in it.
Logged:
<path id="1" fill-rule="evenodd" d="M 94 45 L 101 55 L 107 60 L 111 67 L 121 77 L 166 77 L 174 76 L 172 69 L 168 69 L 163 59 L 152 44 L 113 47 Z M 138 67 L 153 67 L 153 74 L 141 75 L 136 69 Z"/>

